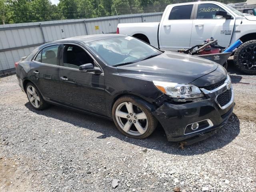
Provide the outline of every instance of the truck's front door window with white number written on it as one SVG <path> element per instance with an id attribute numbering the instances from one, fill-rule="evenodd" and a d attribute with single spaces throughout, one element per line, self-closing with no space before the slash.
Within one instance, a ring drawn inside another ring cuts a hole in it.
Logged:
<path id="1" fill-rule="evenodd" d="M 199 4 L 196 19 L 218 19 L 215 14 L 219 10 L 224 11 L 221 7 L 215 4 Z"/>

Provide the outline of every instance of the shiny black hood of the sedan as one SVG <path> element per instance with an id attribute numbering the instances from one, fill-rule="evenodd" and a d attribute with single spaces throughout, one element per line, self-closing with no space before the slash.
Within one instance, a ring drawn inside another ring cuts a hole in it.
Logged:
<path id="1" fill-rule="evenodd" d="M 190 83 L 218 68 L 210 60 L 183 53 L 166 51 L 163 54 L 134 64 L 118 66 L 124 76 L 176 83 Z"/>

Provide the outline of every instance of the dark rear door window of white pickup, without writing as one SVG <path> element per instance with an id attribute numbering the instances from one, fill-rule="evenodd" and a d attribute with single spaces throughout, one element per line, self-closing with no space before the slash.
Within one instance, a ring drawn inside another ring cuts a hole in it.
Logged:
<path id="1" fill-rule="evenodd" d="M 175 6 L 172 8 L 169 20 L 190 19 L 193 5 Z"/>

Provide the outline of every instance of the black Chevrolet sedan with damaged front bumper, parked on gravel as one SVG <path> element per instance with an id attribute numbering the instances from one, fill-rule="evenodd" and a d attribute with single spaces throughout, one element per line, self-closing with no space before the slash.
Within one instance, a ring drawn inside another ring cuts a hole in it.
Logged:
<path id="1" fill-rule="evenodd" d="M 169 141 L 202 140 L 234 106 L 222 66 L 119 34 L 44 44 L 16 63 L 16 73 L 35 109 L 54 104 L 112 119 L 138 139 L 160 124 Z"/>

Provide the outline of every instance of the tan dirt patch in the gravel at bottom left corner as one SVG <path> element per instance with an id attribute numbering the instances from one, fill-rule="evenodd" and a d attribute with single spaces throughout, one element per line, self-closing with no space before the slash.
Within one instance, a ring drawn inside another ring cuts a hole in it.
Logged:
<path id="1" fill-rule="evenodd" d="M 31 191 L 30 176 L 26 176 L 24 172 L 24 166 L 20 166 L 17 160 L 0 157 L 0 191 Z"/>

